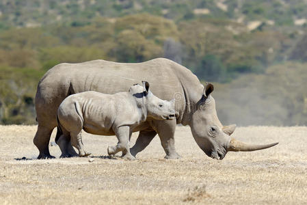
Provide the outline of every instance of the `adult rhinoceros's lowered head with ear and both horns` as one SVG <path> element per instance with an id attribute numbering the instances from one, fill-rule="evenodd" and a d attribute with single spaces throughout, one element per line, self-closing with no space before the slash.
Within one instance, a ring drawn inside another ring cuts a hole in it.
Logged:
<path id="1" fill-rule="evenodd" d="M 198 146 L 213 159 L 224 159 L 228 151 L 254 151 L 270 148 L 278 143 L 268 145 L 249 145 L 238 141 L 230 135 L 235 131 L 235 124 L 222 126 L 217 118 L 215 100 L 211 96 L 213 85 L 204 87 L 200 100 L 196 103 L 191 115 L 191 131 Z"/>

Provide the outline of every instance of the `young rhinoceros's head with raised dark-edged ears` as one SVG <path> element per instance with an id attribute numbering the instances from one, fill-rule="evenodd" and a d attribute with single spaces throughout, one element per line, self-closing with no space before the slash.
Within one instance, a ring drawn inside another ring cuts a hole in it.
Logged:
<path id="1" fill-rule="evenodd" d="M 149 90 L 149 83 L 142 81 L 142 85 L 135 84 L 130 87 L 129 92 L 137 100 L 138 106 L 142 106 L 147 113 L 147 117 L 155 120 L 174 120 L 175 101 L 174 99 L 161 100 Z"/>

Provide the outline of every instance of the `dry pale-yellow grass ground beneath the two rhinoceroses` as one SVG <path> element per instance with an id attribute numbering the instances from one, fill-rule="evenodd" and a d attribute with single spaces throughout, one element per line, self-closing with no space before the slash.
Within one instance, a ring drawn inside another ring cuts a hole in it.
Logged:
<path id="1" fill-rule="evenodd" d="M 229 152 L 222 161 L 207 157 L 184 126 L 176 130 L 178 160 L 163 159 L 159 137 L 137 161 L 107 159 L 116 137 L 86 133 L 92 158 L 58 159 L 59 148 L 49 146 L 57 159 L 37 160 L 35 132 L 36 126 L 0 126 L 0 204 L 307 203 L 307 127 L 237 128 L 233 135 L 242 141 L 280 144 Z"/>

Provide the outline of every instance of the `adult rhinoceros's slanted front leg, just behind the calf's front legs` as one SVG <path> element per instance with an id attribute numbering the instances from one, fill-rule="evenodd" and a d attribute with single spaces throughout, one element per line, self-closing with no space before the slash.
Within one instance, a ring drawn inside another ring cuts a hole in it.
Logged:
<path id="1" fill-rule="evenodd" d="M 137 153 L 144 150 L 156 135 L 157 132 L 152 129 L 139 131 L 137 141 L 135 142 L 135 145 L 130 149 L 131 154 L 136 156 Z"/>

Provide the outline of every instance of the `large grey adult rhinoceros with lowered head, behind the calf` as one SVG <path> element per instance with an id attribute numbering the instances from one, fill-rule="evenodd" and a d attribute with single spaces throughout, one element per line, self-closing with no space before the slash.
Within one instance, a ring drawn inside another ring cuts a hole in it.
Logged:
<path id="1" fill-rule="evenodd" d="M 139 124 L 139 131 L 131 154 L 144 150 L 159 135 L 166 159 L 180 157 L 174 144 L 176 124 L 189 125 L 198 146 L 206 155 L 223 159 L 228 151 L 254 151 L 275 146 L 248 145 L 230 137 L 235 125 L 222 126 L 217 118 L 213 85 L 200 83 L 190 70 L 169 59 L 152 59 L 137 64 L 122 64 L 105 60 L 81 64 L 59 64 L 51 68 L 38 83 L 35 98 L 38 131 L 34 144 L 40 150 L 38 159 L 53 158 L 49 140 L 57 126 L 57 108 L 70 94 L 94 90 L 105 94 L 124 92 L 134 83 L 148 81 L 158 98 L 175 98 L 176 120 L 148 119 Z"/>

